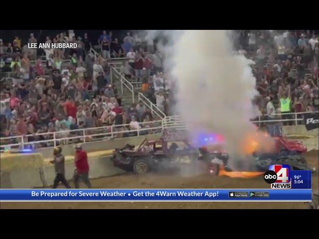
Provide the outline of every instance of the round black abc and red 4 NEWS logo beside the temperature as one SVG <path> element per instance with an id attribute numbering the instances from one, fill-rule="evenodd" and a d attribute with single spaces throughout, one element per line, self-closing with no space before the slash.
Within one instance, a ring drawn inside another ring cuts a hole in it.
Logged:
<path id="1" fill-rule="evenodd" d="M 285 164 L 270 165 L 269 170 L 264 174 L 264 180 L 274 189 L 291 188 L 290 166 Z"/>

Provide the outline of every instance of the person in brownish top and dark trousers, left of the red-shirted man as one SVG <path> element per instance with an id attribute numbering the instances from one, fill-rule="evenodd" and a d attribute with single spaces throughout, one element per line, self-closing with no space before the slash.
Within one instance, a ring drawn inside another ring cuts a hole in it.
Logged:
<path id="1" fill-rule="evenodd" d="M 61 152 L 62 148 L 60 146 L 56 146 L 53 148 L 54 157 L 50 161 L 50 163 L 54 164 L 54 170 L 56 175 L 52 188 L 56 188 L 59 182 L 62 182 L 66 188 L 71 188 L 68 181 L 66 181 L 65 179 L 64 155 Z"/>

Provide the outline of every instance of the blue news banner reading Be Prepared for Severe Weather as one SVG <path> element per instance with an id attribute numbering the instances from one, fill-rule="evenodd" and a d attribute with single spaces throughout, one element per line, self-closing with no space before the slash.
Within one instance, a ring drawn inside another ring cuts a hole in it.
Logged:
<path id="1" fill-rule="evenodd" d="M 0 189 L 0 201 L 301 201 L 311 189 Z"/>

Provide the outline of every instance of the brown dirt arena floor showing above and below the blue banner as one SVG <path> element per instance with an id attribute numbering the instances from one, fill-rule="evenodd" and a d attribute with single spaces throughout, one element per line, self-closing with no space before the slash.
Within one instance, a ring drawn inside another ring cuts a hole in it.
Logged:
<path id="1" fill-rule="evenodd" d="M 306 154 L 311 167 L 312 188 L 318 191 L 319 151 Z M 268 189 L 263 176 L 256 178 L 229 178 L 200 175 L 181 177 L 150 173 L 125 174 L 92 180 L 93 188 L 261 188 Z M 1 202 L 0 209 L 305 209 L 303 202 Z"/>

